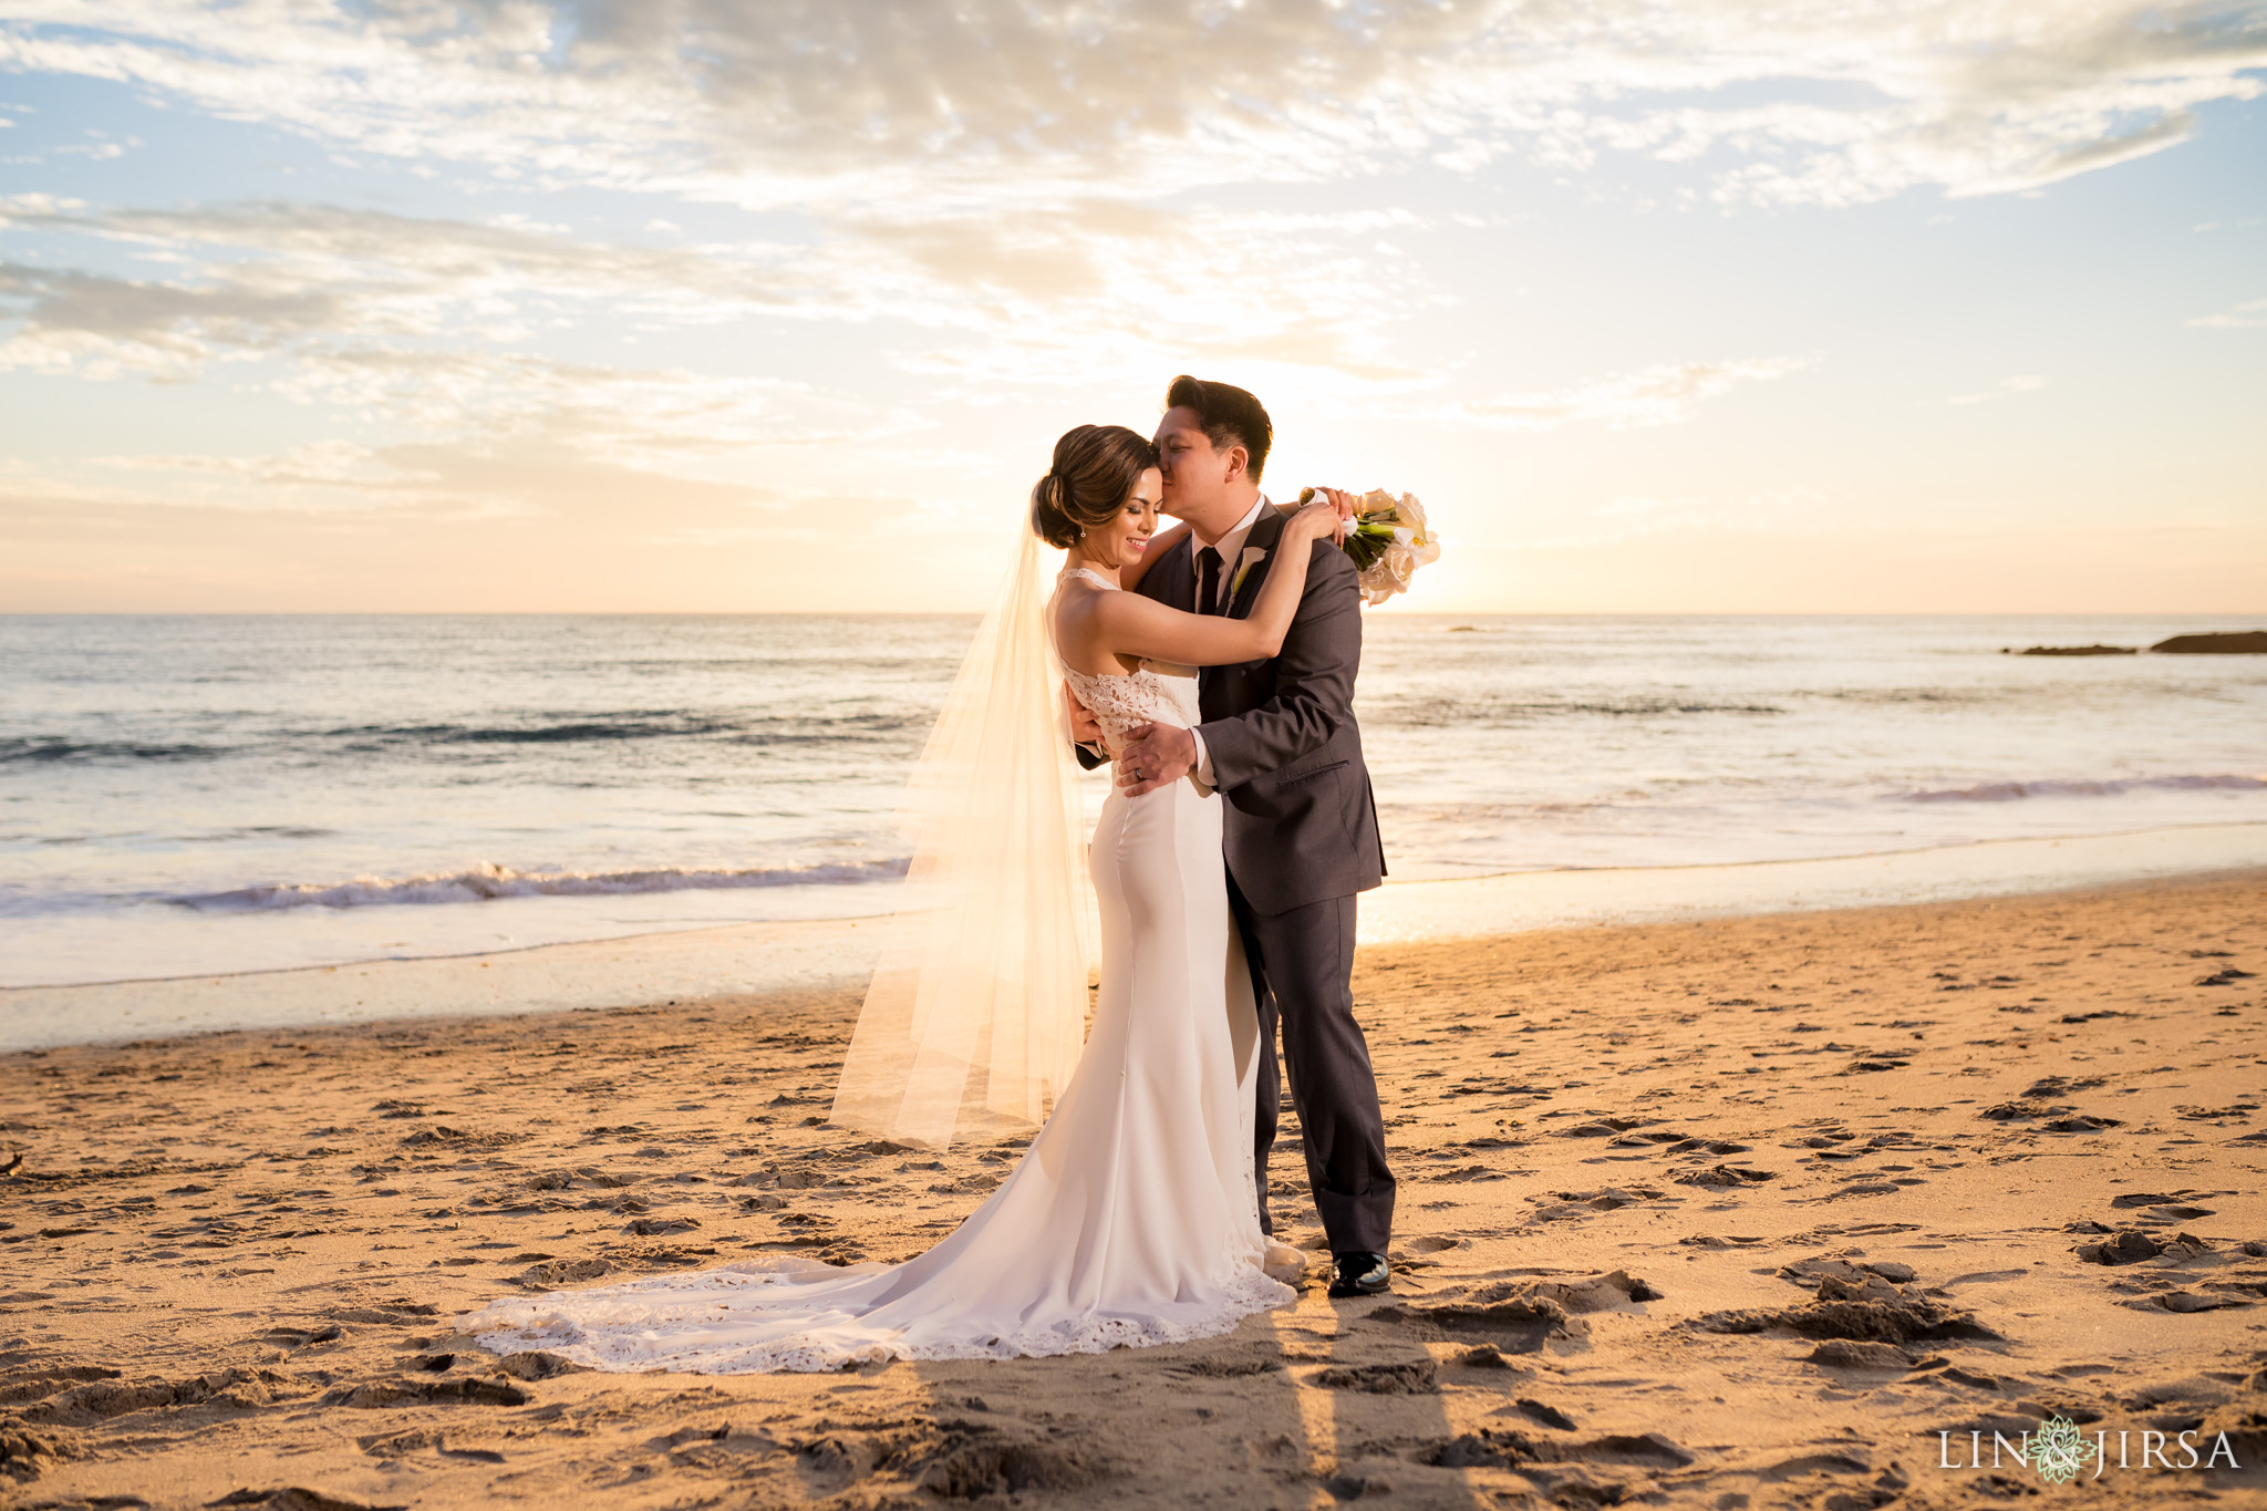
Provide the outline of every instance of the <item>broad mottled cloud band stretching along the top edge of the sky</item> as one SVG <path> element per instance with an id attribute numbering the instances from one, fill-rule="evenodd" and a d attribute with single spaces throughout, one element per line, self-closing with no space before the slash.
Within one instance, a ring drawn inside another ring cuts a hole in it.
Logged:
<path id="1" fill-rule="evenodd" d="M 535 0 L 16 7 L 0 68 L 363 152 L 950 217 L 1501 154 L 1725 202 L 2036 188 L 2260 93 L 2267 14 L 2174 0 Z"/>

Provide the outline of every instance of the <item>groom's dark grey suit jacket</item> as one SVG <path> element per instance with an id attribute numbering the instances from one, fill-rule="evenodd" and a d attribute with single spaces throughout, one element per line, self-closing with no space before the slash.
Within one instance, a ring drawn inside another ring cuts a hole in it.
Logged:
<path id="1" fill-rule="evenodd" d="M 1276 560 L 1288 512 L 1263 510 L 1242 557 L 1265 553 L 1231 594 L 1233 618 Z M 1197 607 L 1195 539 L 1183 537 L 1143 575 L 1138 591 L 1181 612 Z M 1236 562 L 1222 573 L 1236 580 Z M 1362 666 L 1362 589 L 1353 562 L 1313 544 L 1299 614 L 1270 659 L 1206 666 L 1197 689 L 1204 748 L 1226 802 L 1222 850 L 1251 908 L 1288 913 L 1367 893 L 1385 877 L 1378 809 L 1353 723 L 1353 673 Z"/>

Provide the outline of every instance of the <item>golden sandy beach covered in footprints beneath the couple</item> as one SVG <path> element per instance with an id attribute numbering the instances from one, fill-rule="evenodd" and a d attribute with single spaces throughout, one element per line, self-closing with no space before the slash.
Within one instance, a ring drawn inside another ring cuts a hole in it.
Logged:
<path id="1" fill-rule="evenodd" d="M 453 1318 L 948 1232 L 1016 1144 L 827 1128 L 857 992 L 18 1051 L 0 1502 L 2267 1504 L 2262 981 L 2267 872 L 1369 947 L 1392 1296 L 839 1375 Z"/>

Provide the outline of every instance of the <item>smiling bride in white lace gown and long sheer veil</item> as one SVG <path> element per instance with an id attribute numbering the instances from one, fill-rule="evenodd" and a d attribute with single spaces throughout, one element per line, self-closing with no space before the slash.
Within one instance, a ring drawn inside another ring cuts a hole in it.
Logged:
<path id="1" fill-rule="evenodd" d="M 1088 865 L 1102 988 L 1079 1044 L 1086 956 L 1077 797 L 1054 664 L 1111 739 L 1197 723 L 1199 666 L 1276 655 L 1317 501 L 1285 523 L 1251 614 L 1181 614 L 1131 591 L 1158 528 L 1152 442 L 1079 426 L 1031 489 L 1031 535 L 916 772 L 925 813 L 900 915 L 843 1062 L 834 1121 L 905 1144 L 1043 1121 L 1016 1171 L 952 1237 L 905 1264 L 728 1264 L 499 1300 L 460 1321 L 508 1352 L 612 1371 L 827 1371 L 864 1359 L 1102 1352 L 1226 1332 L 1292 1300 L 1251 1176 L 1258 1019 L 1229 917 L 1220 800 L 1177 782 L 1113 788 Z M 1065 550 L 1041 603 L 1038 541 Z M 1054 655 L 1045 655 L 1052 639 Z M 1050 1110 L 1052 1103 L 1052 1110 Z M 1288 1262 L 1288 1264 L 1285 1264 Z"/>

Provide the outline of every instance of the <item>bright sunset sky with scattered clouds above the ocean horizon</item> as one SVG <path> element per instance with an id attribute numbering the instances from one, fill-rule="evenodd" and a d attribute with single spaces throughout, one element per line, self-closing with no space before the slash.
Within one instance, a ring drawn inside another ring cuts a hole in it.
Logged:
<path id="1" fill-rule="evenodd" d="M 975 609 L 1192 372 L 1426 503 L 1385 612 L 2238 628 L 2262 91 L 2262 5 L 0 0 L 0 612 Z"/>

